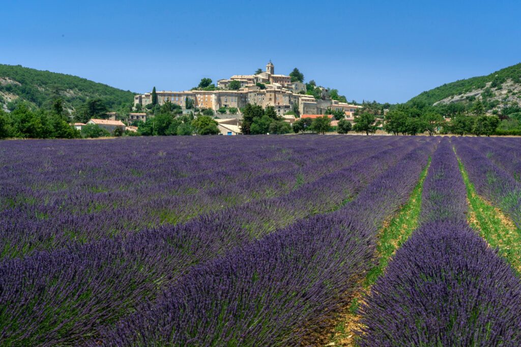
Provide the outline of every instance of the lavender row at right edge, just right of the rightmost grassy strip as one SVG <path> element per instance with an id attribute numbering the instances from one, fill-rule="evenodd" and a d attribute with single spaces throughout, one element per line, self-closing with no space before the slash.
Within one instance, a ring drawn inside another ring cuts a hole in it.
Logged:
<path id="1" fill-rule="evenodd" d="M 454 143 L 456 153 L 478 193 L 510 215 L 516 226 L 521 228 L 521 184 L 481 152 L 468 146 L 468 142 L 457 139 Z"/>

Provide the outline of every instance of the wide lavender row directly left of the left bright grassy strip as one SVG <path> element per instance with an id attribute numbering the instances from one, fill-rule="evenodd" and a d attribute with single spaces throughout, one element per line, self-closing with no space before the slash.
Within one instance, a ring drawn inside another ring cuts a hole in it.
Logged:
<path id="1" fill-rule="evenodd" d="M 384 217 L 407 199 L 433 143 L 408 153 L 341 210 L 269 234 L 193 268 L 104 345 L 293 345 L 369 268 Z"/>

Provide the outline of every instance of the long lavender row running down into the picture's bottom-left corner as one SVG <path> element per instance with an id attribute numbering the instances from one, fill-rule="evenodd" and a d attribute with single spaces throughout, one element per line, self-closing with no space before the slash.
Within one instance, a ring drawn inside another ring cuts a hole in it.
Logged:
<path id="1" fill-rule="evenodd" d="M 184 225 L 146 230 L 129 235 L 126 239 L 104 239 L 84 247 L 36 253 L 24 261 L 5 261 L 1 268 L 8 275 L 2 286 L 9 289 L 6 292 L 10 295 L 0 299 L 6 305 L 10 303 L 8 311 L 11 315 L 4 320 L 3 336 L 12 337 L 20 323 L 19 319 L 36 318 L 36 322 L 39 322 L 49 319 L 49 316 L 63 320 L 54 320 L 46 329 L 27 329 L 27 335 L 17 337 L 16 341 L 42 343 L 49 340 L 57 343 L 87 335 L 97 322 L 108 324 L 114 318 L 131 312 L 141 300 L 153 300 L 160 288 L 175 282 L 190 266 L 210 260 L 233 247 L 242 246 L 253 235 L 263 234 L 256 229 L 252 232 L 252 226 L 261 228 L 271 223 L 287 224 L 289 216 L 303 215 L 298 211 L 313 212 L 314 204 L 311 202 L 320 196 L 330 196 L 334 191 L 343 191 L 344 194 L 348 191 L 356 192 L 371 175 L 387 168 L 417 146 L 414 141 L 406 140 L 403 146 L 362 160 L 352 165 L 354 168 L 341 170 L 331 177 L 325 176 L 301 187 L 291 197 L 271 201 L 271 204 L 259 203 L 249 205 L 247 209 L 228 209 L 202 216 Z M 349 178 L 349 174 L 356 179 Z M 340 198 L 337 200 L 341 201 Z M 275 212 L 280 213 L 274 216 Z M 248 229 L 244 228 L 246 224 Z M 55 259 L 60 261 L 56 262 Z M 110 275 L 92 278 L 93 274 L 104 272 Z M 70 273 L 76 274 L 76 277 L 70 277 Z M 38 283 L 42 290 L 25 289 L 24 284 L 28 281 Z M 69 284 L 69 281 L 72 283 Z M 64 288 L 75 290 L 64 291 Z M 23 304 L 28 302 L 22 299 L 26 297 L 33 303 L 30 309 Z M 55 298 L 60 298 L 60 301 Z M 77 303 L 73 308 L 79 314 L 72 314 L 67 305 L 70 301 Z M 27 314 L 27 310 L 40 314 Z M 39 324 L 34 323 L 34 326 Z"/>

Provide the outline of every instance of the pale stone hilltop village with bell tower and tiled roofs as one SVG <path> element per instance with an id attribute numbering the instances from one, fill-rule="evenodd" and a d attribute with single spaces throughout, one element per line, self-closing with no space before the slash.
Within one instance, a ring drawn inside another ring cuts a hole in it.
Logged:
<path id="1" fill-rule="evenodd" d="M 211 82 L 211 81 L 210 81 Z M 184 110 L 193 108 L 212 109 L 216 113 L 227 114 L 228 118 L 241 118 L 241 108 L 253 104 L 266 108 L 273 106 L 277 115 L 288 120 L 295 115 L 325 114 L 328 109 L 343 111 L 348 120 L 361 106 L 334 100 L 330 90 L 315 87 L 314 95 L 307 95 L 306 84 L 292 76 L 276 74 L 271 61 L 266 70 L 257 70 L 256 74 L 233 75 L 229 79 L 217 81 L 213 90 L 194 88 L 190 91 L 158 91 L 157 103 L 163 105 L 170 101 Z M 317 95 L 317 91 L 319 91 Z M 134 107 L 142 108 L 152 103 L 152 92 L 134 96 Z M 140 106 L 138 106 L 140 105 Z"/>

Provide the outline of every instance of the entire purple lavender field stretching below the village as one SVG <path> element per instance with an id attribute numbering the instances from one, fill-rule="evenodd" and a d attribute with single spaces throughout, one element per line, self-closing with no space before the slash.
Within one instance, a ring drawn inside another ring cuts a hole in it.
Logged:
<path id="1" fill-rule="evenodd" d="M 1 346 L 325 345 L 349 320 L 336 345 L 521 345 L 516 138 L 9 140 L 0 168 Z"/>

